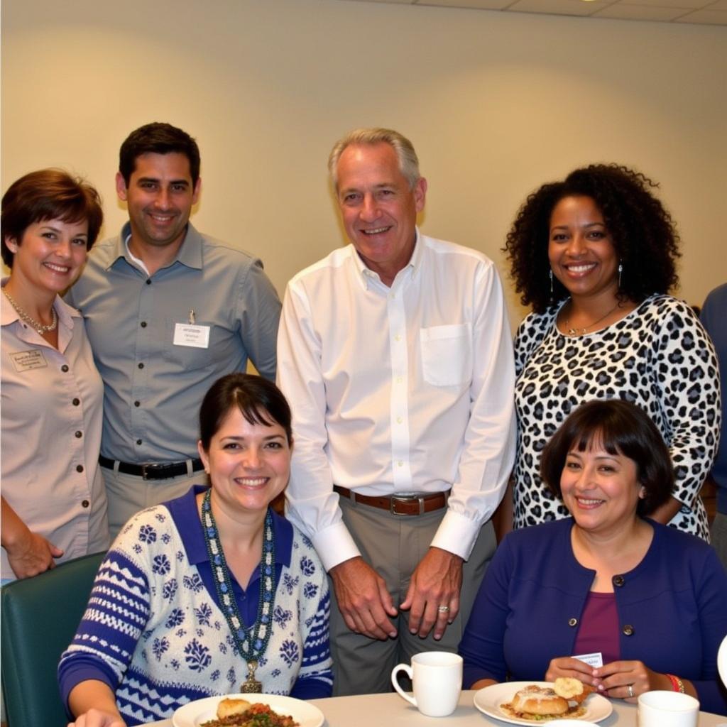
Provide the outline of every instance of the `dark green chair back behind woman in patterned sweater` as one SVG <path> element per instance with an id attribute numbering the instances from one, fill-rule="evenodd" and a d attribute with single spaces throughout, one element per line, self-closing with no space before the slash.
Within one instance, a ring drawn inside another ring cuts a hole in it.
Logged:
<path id="1" fill-rule="evenodd" d="M 8 727 L 65 727 L 56 670 L 105 553 L 67 561 L 0 591 L 2 694 Z"/>

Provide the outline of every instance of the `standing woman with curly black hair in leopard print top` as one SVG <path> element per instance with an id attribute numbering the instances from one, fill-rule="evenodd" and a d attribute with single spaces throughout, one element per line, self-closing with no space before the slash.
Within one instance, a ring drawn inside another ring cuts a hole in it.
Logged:
<path id="1" fill-rule="evenodd" d="M 567 517 L 540 453 L 580 403 L 621 398 L 648 412 L 674 465 L 672 497 L 651 516 L 709 539 L 699 489 L 719 435 L 717 361 L 691 308 L 668 294 L 679 237 L 656 186 L 616 164 L 576 169 L 532 193 L 507 235 L 532 307 L 515 338 L 516 528 Z"/>

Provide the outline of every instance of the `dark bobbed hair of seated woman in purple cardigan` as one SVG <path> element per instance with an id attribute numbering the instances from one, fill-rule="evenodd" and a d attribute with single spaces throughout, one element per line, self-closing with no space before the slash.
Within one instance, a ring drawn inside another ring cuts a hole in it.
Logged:
<path id="1" fill-rule="evenodd" d="M 540 476 L 556 497 L 561 494 L 561 474 L 571 449 L 586 451 L 597 442 L 608 454 L 622 454 L 635 462 L 644 497 L 638 515 L 649 515 L 670 498 L 674 468 L 662 435 L 646 411 L 630 401 L 588 401 L 578 407 L 545 445 Z"/>

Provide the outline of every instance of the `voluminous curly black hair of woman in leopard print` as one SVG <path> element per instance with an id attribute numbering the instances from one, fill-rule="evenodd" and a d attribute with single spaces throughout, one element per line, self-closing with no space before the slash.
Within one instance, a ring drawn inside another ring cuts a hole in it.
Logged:
<path id="1" fill-rule="evenodd" d="M 510 277 L 523 305 L 544 313 L 569 297 L 558 278 L 550 293 L 548 242 L 550 215 L 564 197 L 595 201 L 623 263 L 619 297 L 641 302 L 678 285 L 679 235 L 674 220 L 651 193 L 658 187 L 645 174 L 619 164 L 591 164 L 571 172 L 563 182 L 542 185 L 528 196 L 507 233 L 502 252 L 510 260 Z"/>

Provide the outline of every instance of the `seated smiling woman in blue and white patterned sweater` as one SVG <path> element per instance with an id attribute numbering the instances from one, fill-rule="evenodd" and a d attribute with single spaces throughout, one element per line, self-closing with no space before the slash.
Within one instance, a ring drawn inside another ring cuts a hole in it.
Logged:
<path id="1" fill-rule="evenodd" d="M 58 667 L 76 727 L 169 718 L 238 691 L 330 696 L 329 591 L 310 540 L 273 512 L 292 452 L 278 388 L 230 374 L 202 402 L 212 487 L 132 518 Z"/>

